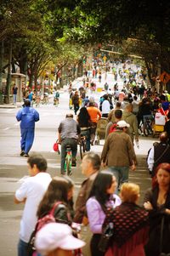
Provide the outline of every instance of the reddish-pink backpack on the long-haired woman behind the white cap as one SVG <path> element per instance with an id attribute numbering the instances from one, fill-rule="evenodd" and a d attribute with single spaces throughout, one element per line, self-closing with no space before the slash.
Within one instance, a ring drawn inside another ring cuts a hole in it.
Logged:
<path id="1" fill-rule="evenodd" d="M 55 208 L 58 207 L 60 203 L 62 202 L 54 203 L 54 207 L 51 209 L 51 211 L 47 215 L 37 220 L 37 225 L 35 227 L 35 230 L 33 230 L 31 233 L 30 240 L 27 246 L 27 252 L 29 256 L 32 256 L 32 254 L 36 251 L 36 248 L 34 247 L 34 242 L 35 242 L 37 231 L 41 230 L 44 225 L 50 222 L 56 222 L 54 218 L 54 210 Z"/>

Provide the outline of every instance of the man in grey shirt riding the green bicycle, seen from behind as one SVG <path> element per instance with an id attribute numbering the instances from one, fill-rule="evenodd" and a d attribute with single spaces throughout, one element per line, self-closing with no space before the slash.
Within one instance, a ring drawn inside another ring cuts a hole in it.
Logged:
<path id="1" fill-rule="evenodd" d="M 78 123 L 73 119 L 72 114 L 67 114 L 65 120 L 59 124 L 59 142 L 61 143 L 61 166 L 60 172 L 62 175 L 65 174 L 65 156 L 66 147 L 71 146 L 72 152 L 72 166 L 76 166 L 77 156 L 77 140 L 81 133 Z"/>

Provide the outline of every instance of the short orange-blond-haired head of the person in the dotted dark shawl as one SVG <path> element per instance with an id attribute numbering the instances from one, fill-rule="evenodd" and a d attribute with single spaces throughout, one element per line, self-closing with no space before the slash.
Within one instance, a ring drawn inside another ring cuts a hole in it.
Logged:
<path id="1" fill-rule="evenodd" d="M 134 183 L 123 183 L 121 186 L 120 196 L 122 202 L 133 202 L 136 203 L 139 199 L 139 185 Z"/>

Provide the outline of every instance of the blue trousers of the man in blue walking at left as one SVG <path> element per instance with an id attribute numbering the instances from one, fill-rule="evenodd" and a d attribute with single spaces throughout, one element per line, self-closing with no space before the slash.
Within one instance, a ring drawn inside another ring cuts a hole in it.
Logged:
<path id="1" fill-rule="evenodd" d="M 31 146 L 34 141 L 34 128 L 21 128 L 21 151 L 25 151 L 27 154 L 31 150 Z"/>

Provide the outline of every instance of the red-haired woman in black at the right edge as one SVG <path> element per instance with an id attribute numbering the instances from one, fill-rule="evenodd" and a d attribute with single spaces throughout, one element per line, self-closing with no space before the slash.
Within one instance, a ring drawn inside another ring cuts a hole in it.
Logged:
<path id="1" fill-rule="evenodd" d="M 144 208 L 150 215 L 150 236 L 145 246 L 146 256 L 170 253 L 170 164 L 156 168 L 152 188 L 144 195 Z M 167 254 L 166 254 L 167 255 Z"/>

